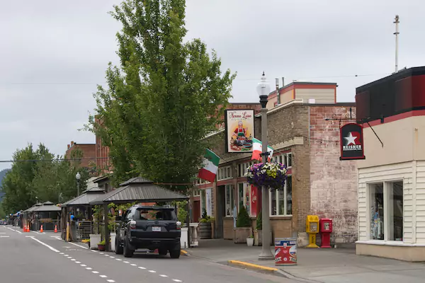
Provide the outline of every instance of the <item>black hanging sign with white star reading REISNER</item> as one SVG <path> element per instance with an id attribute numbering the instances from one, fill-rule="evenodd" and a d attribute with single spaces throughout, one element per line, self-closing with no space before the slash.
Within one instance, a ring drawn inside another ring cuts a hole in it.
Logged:
<path id="1" fill-rule="evenodd" d="M 363 126 L 356 123 L 346 124 L 340 129 L 340 160 L 365 159 L 363 151 Z"/>

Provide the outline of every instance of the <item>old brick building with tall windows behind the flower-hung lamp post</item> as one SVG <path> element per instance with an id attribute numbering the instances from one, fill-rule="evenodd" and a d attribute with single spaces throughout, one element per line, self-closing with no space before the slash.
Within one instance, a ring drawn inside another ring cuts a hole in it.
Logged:
<path id="1" fill-rule="evenodd" d="M 336 84 L 327 86 L 332 89 Z M 305 103 L 306 99 L 310 103 Z M 325 120 L 346 118 L 350 108 L 354 114 L 356 108 L 355 103 L 335 103 L 332 99 L 321 104 L 312 103 L 319 100 L 317 96 L 280 100 L 282 104 L 273 103 L 268 110 L 268 142 L 274 149 L 273 160 L 288 166 L 283 192 L 270 192 L 273 238 L 305 238 L 306 216 L 317 214 L 334 219 L 334 242 L 356 241 L 356 162 L 339 161 L 340 122 Z M 256 115 L 255 127 L 255 137 L 261 139 L 261 115 Z M 214 183 L 199 180 L 193 190 L 193 221 L 198 220 L 200 212 L 215 216 L 217 238 L 231 239 L 234 206 L 239 211 L 244 205 L 253 226 L 256 222 L 259 192 L 244 177 L 246 167 L 252 163 L 251 154 L 226 153 L 224 129 L 210 134 L 208 139 L 217 144 L 212 151 L 220 156 L 220 166 Z"/>

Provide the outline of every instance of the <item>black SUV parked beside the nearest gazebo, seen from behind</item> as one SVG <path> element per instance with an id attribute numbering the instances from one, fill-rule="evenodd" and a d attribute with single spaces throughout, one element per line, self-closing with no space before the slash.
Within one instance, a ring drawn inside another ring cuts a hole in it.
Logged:
<path id="1" fill-rule="evenodd" d="M 147 248 L 180 258 L 181 222 L 177 221 L 174 207 L 135 205 L 117 220 L 120 225 L 115 237 L 116 254 L 131 258 L 137 248 Z"/>

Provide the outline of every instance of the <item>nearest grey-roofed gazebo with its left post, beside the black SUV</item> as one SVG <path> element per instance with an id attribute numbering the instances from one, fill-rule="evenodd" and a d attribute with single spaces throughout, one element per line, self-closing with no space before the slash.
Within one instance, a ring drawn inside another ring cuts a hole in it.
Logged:
<path id="1" fill-rule="evenodd" d="M 120 184 L 118 189 L 108 192 L 90 202 L 91 205 L 103 205 L 105 215 L 105 248 L 109 250 L 108 204 L 125 204 L 131 202 L 172 202 L 188 201 L 189 197 L 155 185 L 151 180 L 135 177 Z"/>

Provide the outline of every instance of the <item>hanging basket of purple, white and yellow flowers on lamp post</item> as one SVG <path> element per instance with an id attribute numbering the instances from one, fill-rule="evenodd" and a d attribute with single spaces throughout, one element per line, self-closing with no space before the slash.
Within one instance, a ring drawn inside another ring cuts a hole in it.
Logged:
<path id="1" fill-rule="evenodd" d="M 281 163 L 256 163 L 246 168 L 248 183 L 256 187 L 283 190 L 286 166 Z"/>

